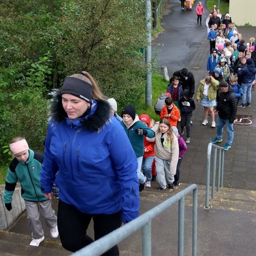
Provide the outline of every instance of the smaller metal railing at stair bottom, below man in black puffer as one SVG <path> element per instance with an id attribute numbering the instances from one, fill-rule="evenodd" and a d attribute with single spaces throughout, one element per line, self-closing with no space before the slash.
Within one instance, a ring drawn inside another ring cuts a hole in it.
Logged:
<path id="1" fill-rule="evenodd" d="M 217 179 L 217 191 L 220 191 L 220 187 L 223 187 L 223 170 L 224 170 L 224 154 L 223 147 L 219 147 L 213 143 L 209 143 L 207 147 L 207 163 L 206 163 L 206 191 L 205 191 L 205 206 L 204 209 L 210 209 L 209 197 L 210 197 L 210 173 L 211 173 L 211 153 L 212 147 L 214 148 L 213 155 L 213 171 L 212 171 L 212 195 L 215 196 L 215 177 L 216 177 L 216 165 L 217 165 L 217 150 L 219 151 L 219 164 L 218 164 L 218 179 Z"/>

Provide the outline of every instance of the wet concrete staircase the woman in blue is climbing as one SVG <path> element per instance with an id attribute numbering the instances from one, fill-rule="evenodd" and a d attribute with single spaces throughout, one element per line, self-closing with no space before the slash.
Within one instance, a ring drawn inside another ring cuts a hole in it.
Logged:
<path id="1" fill-rule="evenodd" d="M 157 190 L 157 183 L 141 193 L 140 213 L 144 213 L 189 186 Z M 256 191 L 222 188 L 204 210 L 205 186 L 198 186 L 197 255 L 256 255 Z M 57 211 L 57 201 L 53 207 Z M 192 193 L 185 197 L 185 255 L 191 255 Z M 44 224 L 44 221 L 42 221 Z M 29 246 L 30 230 L 26 212 L 7 231 L 0 231 L 0 255 L 70 255 L 59 238 L 52 239 L 44 227 L 45 240 Z M 93 237 L 92 225 L 88 234 Z M 141 230 L 119 243 L 121 255 L 142 255 Z M 152 221 L 152 255 L 178 255 L 178 203 Z"/>

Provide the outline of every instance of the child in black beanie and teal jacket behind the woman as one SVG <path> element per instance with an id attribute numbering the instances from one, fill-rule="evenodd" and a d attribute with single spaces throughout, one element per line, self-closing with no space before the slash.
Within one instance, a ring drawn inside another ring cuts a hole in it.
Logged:
<path id="1" fill-rule="evenodd" d="M 141 165 L 145 150 L 144 137 L 154 138 L 155 132 L 140 121 L 139 116 L 136 114 L 135 108 L 132 105 L 125 106 L 121 115 L 123 118 L 121 124 L 124 127 L 124 131 L 127 134 L 137 157 L 137 179 L 139 180 L 139 191 L 141 192 L 145 189 L 147 181 L 147 177 L 141 172 Z"/>

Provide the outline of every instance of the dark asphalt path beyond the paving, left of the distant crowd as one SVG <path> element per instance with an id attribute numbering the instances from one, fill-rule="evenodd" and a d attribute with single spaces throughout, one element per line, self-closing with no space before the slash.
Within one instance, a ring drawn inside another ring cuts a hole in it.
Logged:
<path id="1" fill-rule="evenodd" d="M 169 0 L 168 15 L 161 20 L 164 31 L 153 41 L 153 54 L 157 54 L 158 66 L 166 66 L 169 76 L 174 71 L 188 66 L 202 40 L 206 36 L 206 18 L 209 11 L 206 9 L 206 0 L 201 1 L 205 15 L 202 15 L 202 26 L 197 25 L 196 5 L 192 11 L 181 10 L 179 0 Z"/>

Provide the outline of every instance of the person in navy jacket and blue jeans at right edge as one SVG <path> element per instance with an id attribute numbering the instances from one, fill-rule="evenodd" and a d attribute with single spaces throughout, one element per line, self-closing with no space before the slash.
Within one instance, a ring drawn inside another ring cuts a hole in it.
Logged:
<path id="1" fill-rule="evenodd" d="M 251 107 L 251 101 L 252 101 L 252 83 L 254 82 L 255 79 L 255 74 L 256 74 L 256 68 L 253 65 L 253 60 L 252 59 L 247 59 L 246 60 L 247 66 L 243 69 L 237 70 L 237 75 L 241 77 L 242 79 L 242 90 L 243 90 L 243 95 L 242 95 L 242 103 L 240 106 L 241 108 L 245 108 L 245 101 L 246 101 L 246 95 L 247 95 L 247 107 Z"/>

